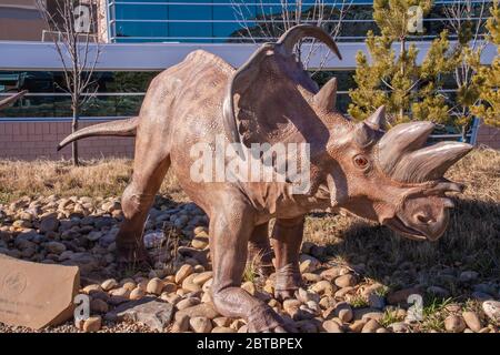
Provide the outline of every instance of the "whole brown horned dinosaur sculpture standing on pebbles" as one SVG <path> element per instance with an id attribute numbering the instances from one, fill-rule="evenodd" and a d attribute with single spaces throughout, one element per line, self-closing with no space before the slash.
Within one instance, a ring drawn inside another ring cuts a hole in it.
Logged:
<path id="1" fill-rule="evenodd" d="M 144 220 L 168 169 L 210 217 L 212 297 L 228 317 L 244 317 L 251 332 L 287 331 L 264 302 L 240 288 L 249 251 L 270 262 L 272 231 L 276 296 L 290 297 L 301 282 L 299 250 L 304 215 L 312 209 L 343 209 L 380 222 L 413 240 L 437 240 L 453 203 L 447 192 L 463 186 L 443 178 L 471 150 L 459 142 L 424 146 L 430 122 L 386 130 L 384 109 L 352 122 L 334 109 L 337 82 L 321 90 L 303 70 L 293 47 L 304 37 L 333 40 L 320 28 L 297 26 L 264 43 L 238 70 L 204 51 L 154 78 L 139 116 L 102 123 L 64 139 L 59 149 L 86 136 L 136 135 L 133 176 L 122 196 L 124 221 L 117 236 L 118 260 L 146 261 L 140 239 Z M 310 189 L 291 194 L 289 182 L 194 182 L 190 146 L 227 143 L 309 143 Z"/>

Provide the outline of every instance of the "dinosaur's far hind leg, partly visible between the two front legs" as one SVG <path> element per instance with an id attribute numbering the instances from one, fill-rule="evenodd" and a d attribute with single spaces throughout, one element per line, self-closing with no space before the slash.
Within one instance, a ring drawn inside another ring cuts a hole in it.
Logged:
<path id="1" fill-rule="evenodd" d="M 247 263 L 256 263 L 258 272 L 269 276 L 273 272 L 273 253 L 269 244 L 269 223 L 257 225 L 248 242 Z"/>

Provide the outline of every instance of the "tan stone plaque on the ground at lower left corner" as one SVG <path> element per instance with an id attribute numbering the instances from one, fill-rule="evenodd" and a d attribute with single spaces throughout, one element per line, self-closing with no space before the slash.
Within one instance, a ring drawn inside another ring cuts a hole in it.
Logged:
<path id="1" fill-rule="evenodd" d="M 68 321 L 80 286 L 77 266 L 0 257 L 0 322 L 39 329 Z"/>

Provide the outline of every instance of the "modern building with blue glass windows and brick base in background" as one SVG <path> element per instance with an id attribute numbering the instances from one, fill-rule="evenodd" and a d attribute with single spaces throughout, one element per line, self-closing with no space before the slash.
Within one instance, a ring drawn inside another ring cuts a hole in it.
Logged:
<path id="1" fill-rule="evenodd" d="M 57 1 L 44 0 L 48 9 Z M 460 1 L 460 0 L 453 0 Z M 478 6 L 476 0 L 463 0 Z M 430 41 L 447 24 L 448 1 L 436 1 L 423 20 L 427 31 L 412 38 L 420 58 Z M 181 61 L 194 49 L 213 52 L 234 67 L 256 49 L 256 43 L 273 40 L 283 27 L 283 1 L 280 0 L 82 0 L 91 6 L 92 53 L 99 48 L 96 80 L 98 93 L 82 112 L 82 125 L 136 115 L 150 80 L 161 70 Z M 356 53 L 366 51 L 364 38 L 376 30 L 372 3 L 367 0 L 304 0 L 297 12 L 301 21 L 318 21 L 314 9 L 322 3 L 321 24 L 336 30 L 343 54 L 339 61 L 324 58 L 319 48 L 308 60 L 309 68 L 328 71 L 339 78 L 339 105 L 349 104 L 348 90 L 353 87 Z M 314 7 L 316 4 L 316 7 Z M 469 19 L 474 21 L 474 17 Z M 68 158 L 70 150 L 56 152 L 57 142 L 70 132 L 70 100 L 60 88 L 63 72 L 52 43 L 53 33 L 44 26 L 37 0 L 0 0 L 0 99 L 11 92 L 29 90 L 24 99 L 0 112 L 0 158 Z M 452 38 L 453 39 L 453 38 Z M 483 51 L 490 63 L 496 48 Z M 450 87 L 449 91 L 454 88 Z M 472 140 L 500 148 L 500 133 L 490 128 L 474 130 Z M 130 155 L 133 139 L 90 139 L 80 142 L 83 156 Z"/>

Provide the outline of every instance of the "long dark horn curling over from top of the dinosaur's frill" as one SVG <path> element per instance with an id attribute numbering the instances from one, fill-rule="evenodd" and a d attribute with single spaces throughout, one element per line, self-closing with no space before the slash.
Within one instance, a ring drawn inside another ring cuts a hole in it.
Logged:
<path id="1" fill-rule="evenodd" d="M 339 59 L 342 59 L 339 48 L 331 36 L 322 28 L 312 24 L 298 24 L 292 27 L 280 37 L 277 44 L 282 45 L 287 54 L 291 54 L 296 44 L 306 37 L 311 37 L 323 42 Z"/>

